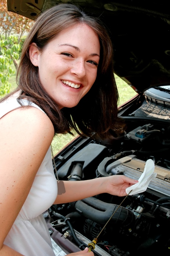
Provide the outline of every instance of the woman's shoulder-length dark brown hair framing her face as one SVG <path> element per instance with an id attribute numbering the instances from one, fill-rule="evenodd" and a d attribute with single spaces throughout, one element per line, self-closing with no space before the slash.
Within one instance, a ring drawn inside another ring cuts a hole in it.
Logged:
<path id="1" fill-rule="evenodd" d="M 100 40 L 100 62 L 97 77 L 90 91 L 77 106 L 60 110 L 41 85 L 38 67 L 30 61 L 29 48 L 34 42 L 38 50 L 42 52 L 48 42 L 62 30 L 80 23 L 90 26 Z M 108 32 L 98 19 L 88 16 L 73 4 L 58 4 L 37 18 L 24 42 L 17 83 L 18 88 L 11 94 L 20 92 L 18 102 L 21 105 L 22 100 L 20 99 L 27 98 L 44 110 L 52 121 L 55 133 L 69 132 L 72 134 L 74 129 L 83 137 L 108 138 L 113 134 L 120 134 L 123 130 L 124 124 L 117 117 L 118 90 L 114 79 L 112 42 Z"/>

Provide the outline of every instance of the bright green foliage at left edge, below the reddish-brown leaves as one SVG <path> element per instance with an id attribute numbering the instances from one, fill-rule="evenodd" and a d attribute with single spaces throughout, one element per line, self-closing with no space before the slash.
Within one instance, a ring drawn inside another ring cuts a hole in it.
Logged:
<path id="1" fill-rule="evenodd" d="M 16 70 L 12 69 L 12 64 L 17 65 L 21 46 L 18 44 L 18 36 L 11 35 L 0 40 L 0 96 L 10 92 L 11 84 L 8 82 L 10 75 Z"/>

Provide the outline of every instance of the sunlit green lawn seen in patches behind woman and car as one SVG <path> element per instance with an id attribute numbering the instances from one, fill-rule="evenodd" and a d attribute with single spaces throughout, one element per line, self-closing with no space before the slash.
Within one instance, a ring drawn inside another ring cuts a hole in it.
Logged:
<path id="1" fill-rule="evenodd" d="M 14 67 L 13 67 L 14 68 Z M 115 75 L 116 84 L 118 87 L 119 92 L 119 104 L 118 106 L 122 105 L 126 101 L 130 100 L 132 97 L 136 95 L 136 92 L 126 84 L 121 78 Z M 9 78 L 9 82 L 11 84 L 10 91 L 14 90 L 16 88 L 16 74 L 13 74 Z M 64 146 L 66 146 L 71 140 L 73 140 L 75 137 L 71 134 L 57 134 L 53 141 L 52 141 L 52 148 L 54 155 L 60 151 Z"/>

